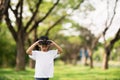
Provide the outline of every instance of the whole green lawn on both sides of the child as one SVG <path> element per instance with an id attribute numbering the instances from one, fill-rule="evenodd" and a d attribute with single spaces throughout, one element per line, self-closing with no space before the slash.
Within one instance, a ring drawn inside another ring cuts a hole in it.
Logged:
<path id="1" fill-rule="evenodd" d="M 15 71 L 14 69 L 0 69 L 0 80 L 34 80 L 34 69 Z M 55 65 L 54 78 L 50 80 L 120 80 L 120 68 L 111 67 L 109 70 L 101 68 L 90 69 L 81 65 Z"/>

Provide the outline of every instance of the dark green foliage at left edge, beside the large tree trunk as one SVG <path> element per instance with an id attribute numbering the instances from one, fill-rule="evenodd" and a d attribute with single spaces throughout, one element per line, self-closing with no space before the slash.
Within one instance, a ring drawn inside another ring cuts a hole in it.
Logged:
<path id="1" fill-rule="evenodd" d="M 15 43 L 5 24 L 1 24 L 0 31 L 0 66 L 15 65 Z"/>

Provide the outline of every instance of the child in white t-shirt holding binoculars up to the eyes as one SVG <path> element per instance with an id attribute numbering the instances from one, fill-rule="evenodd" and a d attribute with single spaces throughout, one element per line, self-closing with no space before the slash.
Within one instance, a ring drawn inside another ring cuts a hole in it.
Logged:
<path id="1" fill-rule="evenodd" d="M 33 50 L 39 46 L 40 51 Z M 49 50 L 50 46 L 55 46 L 57 50 Z M 41 36 L 38 41 L 33 43 L 26 51 L 29 57 L 35 60 L 35 80 L 49 80 L 53 77 L 54 59 L 62 52 L 62 48 L 47 36 Z"/>

